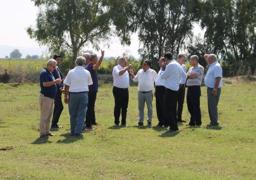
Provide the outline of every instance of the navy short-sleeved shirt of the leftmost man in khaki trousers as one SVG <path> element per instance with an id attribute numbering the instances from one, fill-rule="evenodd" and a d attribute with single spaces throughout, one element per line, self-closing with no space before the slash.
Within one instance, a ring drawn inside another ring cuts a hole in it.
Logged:
<path id="1" fill-rule="evenodd" d="M 49 87 L 43 86 L 43 82 L 51 82 L 54 80 L 55 80 L 54 76 L 46 68 L 44 68 L 40 72 L 40 87 L 41 87 L 40 93 L 44 94 L 45 97 L 53 98 L 53 99 L 55 98 L 57 93 L 57 85 L 53 84 L 52 86 L 49 86 Z"/>

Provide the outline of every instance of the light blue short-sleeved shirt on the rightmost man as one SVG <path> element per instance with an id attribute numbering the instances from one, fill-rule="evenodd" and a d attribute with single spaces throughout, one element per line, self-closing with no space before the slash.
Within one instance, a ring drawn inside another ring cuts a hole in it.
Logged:
<path id="1" fill-rule="evenodd" d="M 218 61 L 210 64 L 204 78 L 205 86 L 207 86 L 208 88 L 214 88 L 217 77 L 221 77 L 220 84 L 218 86 L 218 88 L 220 88 L 222 87 L 222 67 L 220 66 L 220 63 L 218 63 Z"/>

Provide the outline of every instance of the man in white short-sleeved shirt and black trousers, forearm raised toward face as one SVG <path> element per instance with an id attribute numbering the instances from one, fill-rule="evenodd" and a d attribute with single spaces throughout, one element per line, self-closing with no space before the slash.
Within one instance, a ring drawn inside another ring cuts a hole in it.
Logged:
<path id="1" fill-rule="evenodd" d="M 132 68 L 132 65 L 129 64 L 127 67 L 127 60 L 124 57 L 121 57 L 117 60 L 118 65 L 113 68 L 113 79 L 114 79 L 114 87 L 113 87 L 113 95 L 115 99 L 115 107 L 114 107 L 114 118 L 115 118 L 115 126 L 119 126 L 120 113 L 122 109 L 122 120 L 121 125 L 127 126 L 126 124 L 126 114 L 128 108 L 129 101 L 129 92 L 128 87 L 129 84 L 129 73 L 128 70 Z"/>

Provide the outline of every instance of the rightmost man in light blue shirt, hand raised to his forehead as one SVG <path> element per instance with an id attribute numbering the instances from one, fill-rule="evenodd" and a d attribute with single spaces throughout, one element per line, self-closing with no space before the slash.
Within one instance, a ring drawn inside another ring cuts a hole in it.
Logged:
<path id="1" fill-rule="evenodd" d="M 218 102 L 220 99 L 222 87 L 222 68 L 217 61 L 215 54 L 205 54 L 204 58 L 209 66 L 204 84 L 207 86 L 208 112 L 210 116 L 210 124 L 208 126 L 218 126 Z"/>

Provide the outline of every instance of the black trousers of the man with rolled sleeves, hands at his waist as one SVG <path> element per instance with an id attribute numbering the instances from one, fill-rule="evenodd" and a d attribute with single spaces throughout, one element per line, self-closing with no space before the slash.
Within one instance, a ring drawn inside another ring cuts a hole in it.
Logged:
<path id="1" fill-rule="evenodd" d="M 170 130 L 179 130 L 178 123 L 174 118 L 178 93 L 179 91 L 170 90 L 168 88 L 166 88 L 164 92 L 164 114 L 168 125 L 170 125 Z"/>

